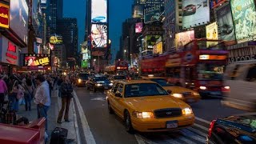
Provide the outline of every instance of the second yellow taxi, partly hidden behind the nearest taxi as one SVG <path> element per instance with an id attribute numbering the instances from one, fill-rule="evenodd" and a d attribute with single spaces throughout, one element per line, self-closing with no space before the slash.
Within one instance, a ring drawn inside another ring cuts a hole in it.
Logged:
<path id="1" fill-rule="evenodd" d="M 198 94 L 197 91 L 190 90 L 182 86 L 174 86 L 173 84 L 168 83 L 166 79 L 162 77 L 148 76 L 148 77 L 142 77 L 142 79 L 157 82 L 165 90 L 171 90 L 172 91 L 171 95 L 173 97 L 179 98 L 182 101 L 187 103 L 198 102 L 201 98 L 200 94 Z"/>

